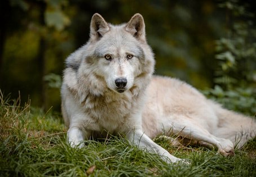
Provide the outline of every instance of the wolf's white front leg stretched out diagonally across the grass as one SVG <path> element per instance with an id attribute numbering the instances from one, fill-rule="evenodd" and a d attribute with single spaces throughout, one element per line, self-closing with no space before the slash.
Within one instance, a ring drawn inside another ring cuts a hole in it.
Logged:
<path id="1" fill-rule="evenodd" d="M 126 134 L 126 137 L 131 143 L 134 143 L 136 146 L 139 146 L 140 148 L 146 148 L 148 151 L 157 153 L 161 156 L 162 160 L 168 163 L 183 161 L 180 158 L 170 155 L 168 151 L 153 142 L 152 139 L 145 135 L 142 130 L 131 131 L 130 133 Z"/>

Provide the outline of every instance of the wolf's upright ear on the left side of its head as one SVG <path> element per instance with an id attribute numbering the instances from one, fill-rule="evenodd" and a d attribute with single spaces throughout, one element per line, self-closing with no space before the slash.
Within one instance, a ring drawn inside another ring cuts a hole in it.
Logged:
<path id="1" fill-rule="evenodd" d="M 99 13 L 95 13 L 91 18 L 90 30 L 91 39 L 99 40 L 105 33 L 109 31 L 109 26 L 103 17 L 99 15 Z"/>

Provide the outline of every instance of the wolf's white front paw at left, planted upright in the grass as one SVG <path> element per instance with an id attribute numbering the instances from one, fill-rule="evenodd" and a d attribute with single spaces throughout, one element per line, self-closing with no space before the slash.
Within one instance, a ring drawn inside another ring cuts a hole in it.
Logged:
<path id="1" fill-rule="evenodd" d="M 83 140 L 87 138 L 87 133 L 85 130 L 82 130 L 77 127 L 71 127 L 68 129 L 68 142 L 71 147 L 79 147 L 82 148 L 84 144 L 82 143 Z"/>

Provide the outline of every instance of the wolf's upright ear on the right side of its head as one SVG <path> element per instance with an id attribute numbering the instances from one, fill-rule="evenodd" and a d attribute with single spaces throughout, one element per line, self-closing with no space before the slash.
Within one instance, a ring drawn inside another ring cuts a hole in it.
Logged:
<path id="1" fill-rule="evenodd" d="M 125 30 L 138 40 L 145 40 L 145 24 L 142 15 L 136 13 L 125 26 Z"/>

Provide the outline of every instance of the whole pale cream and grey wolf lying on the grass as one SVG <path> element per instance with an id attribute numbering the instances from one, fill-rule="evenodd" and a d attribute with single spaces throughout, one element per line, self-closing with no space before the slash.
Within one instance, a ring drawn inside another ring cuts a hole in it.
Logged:
<path id="1" fill-rule="evenodd" d="M 183 81 L 152 75 L 155 58 L 139 13 L 121 25 L 95 13 L 89 41 L 65 64 L 61 110 L 72 147 L 121 134 L 166 162 L 178 162 L 183 160 L 152 139 L 174 133 L 231 156 L 235 144 L 241 148 L 256 135 L 252 117 L 226 110 Z"/>

